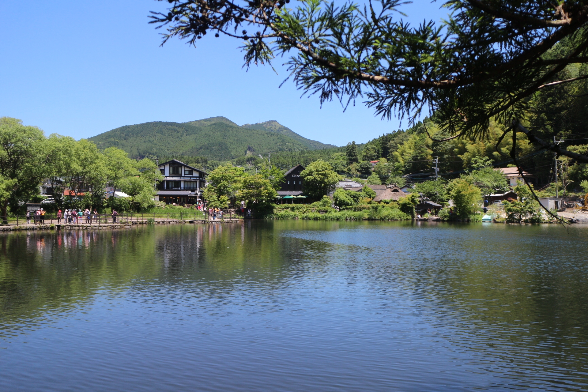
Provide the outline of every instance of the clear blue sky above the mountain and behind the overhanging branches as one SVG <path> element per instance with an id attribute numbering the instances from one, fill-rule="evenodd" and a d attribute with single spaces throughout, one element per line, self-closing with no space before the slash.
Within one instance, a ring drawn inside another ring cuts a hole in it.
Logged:
<path id="1" fill-rule="evenodd" d="M 49 133 L 88 138 L 123 125 L 186 122 L 225 116 L 242 125 L 278 120 L 309 139 L 345 145 L 399 128 L 358 102 L 300 98 L 267 66 L 246 71 L 235 39 L 207 35 L 193 48 L 161 37 L 148 25 L 153 0 L 0 2 L 0 116 Z M 292 4 L 292 3 L 291 3 Z M 401 9 L 413 23 L 446 15 L 441 3 L 415 1 Z M 406 122 L 402 124 L 405 128 Z"/>

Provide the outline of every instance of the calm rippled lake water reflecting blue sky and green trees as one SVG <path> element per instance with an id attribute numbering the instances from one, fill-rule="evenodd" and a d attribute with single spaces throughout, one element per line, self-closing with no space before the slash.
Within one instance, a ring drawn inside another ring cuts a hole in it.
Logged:
<path id="1" fill-rule="evenodd" d="M 1 391 L 588 390 L 588 225 L 0 236 Z"/>

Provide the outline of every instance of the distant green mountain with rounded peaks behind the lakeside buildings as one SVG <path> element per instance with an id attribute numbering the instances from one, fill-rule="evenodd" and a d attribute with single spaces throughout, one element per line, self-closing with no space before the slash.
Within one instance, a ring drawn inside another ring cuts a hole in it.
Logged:
<path id="1" fill-rule="evenodd" d="M 239 126 L 225 117 L 185 123 L 154 121 L 125 125 L 89 140 L 100 149 L 123 149 L 131 158 L 183 155 L 226 160 L 243 155 L 332 147 L 303 138 L 275 121 Z"/>

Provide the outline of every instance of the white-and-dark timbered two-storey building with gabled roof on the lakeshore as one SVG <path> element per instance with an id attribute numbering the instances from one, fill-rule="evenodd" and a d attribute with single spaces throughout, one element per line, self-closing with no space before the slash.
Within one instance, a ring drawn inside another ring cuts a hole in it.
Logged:
<path id="1" fill-rule="evenodd" d="M 177 159 L 158 166 L 163 180 L 159 182 L 156 200 L 167 204 L 192 205 L 201 199 L 208 173 Z"/>

